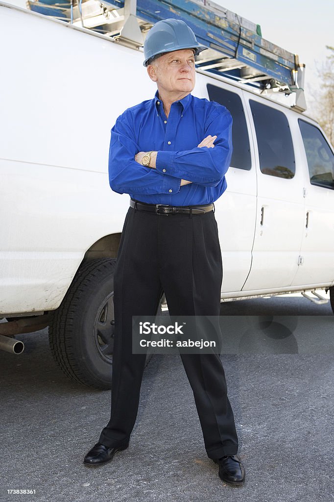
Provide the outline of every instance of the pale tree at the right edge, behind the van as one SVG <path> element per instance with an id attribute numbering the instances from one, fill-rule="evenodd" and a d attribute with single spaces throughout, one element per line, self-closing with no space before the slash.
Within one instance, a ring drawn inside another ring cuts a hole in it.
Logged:
<path id="1" fill-rule="evenodd" d="M 334 47 L 326 45 L 329 54 L 318 70 L 321 87 L 317 98 L 316 116 L 330 143 L 334 145 Z"/>

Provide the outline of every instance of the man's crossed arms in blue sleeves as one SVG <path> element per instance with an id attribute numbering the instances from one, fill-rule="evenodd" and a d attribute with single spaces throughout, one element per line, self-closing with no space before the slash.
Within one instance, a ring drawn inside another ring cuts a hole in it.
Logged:
<path id="1" fill-rule="evenodd" d="M 154 152 L 149 167 L 141 164 L 145 152 L 137 144 L 131 119 L 118 117 L 111 129 L 109 184 L 114 192 L 175 194 L 189 183 L 214 187 L 221 182 L 232 156 L 232 117 L 228 110 L 208 117 L 206 137 L 197 147 Z"/>

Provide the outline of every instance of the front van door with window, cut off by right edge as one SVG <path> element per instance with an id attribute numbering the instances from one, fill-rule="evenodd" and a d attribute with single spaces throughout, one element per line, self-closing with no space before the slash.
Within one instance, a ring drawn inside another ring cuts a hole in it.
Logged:
<path id="1" fill-rule="evenodd" d="M 334 153 L 321 131 L 298 119 L 305 173 L 305 217 L 300 265 L 292 285 L 334 281 Z"/>

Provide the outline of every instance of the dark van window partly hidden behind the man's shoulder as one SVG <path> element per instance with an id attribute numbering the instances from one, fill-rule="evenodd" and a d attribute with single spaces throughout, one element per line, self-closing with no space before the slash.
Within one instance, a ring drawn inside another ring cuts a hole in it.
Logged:
<path id="1" fill-rule="evenodd" d="M 249 171 L 252 167 L 249 137 L 244 108 L 240 96 L 217 85 L 207 84 L 210 101 L 226 106 L 232 115 L 233 153 L 231 166 Z"/>

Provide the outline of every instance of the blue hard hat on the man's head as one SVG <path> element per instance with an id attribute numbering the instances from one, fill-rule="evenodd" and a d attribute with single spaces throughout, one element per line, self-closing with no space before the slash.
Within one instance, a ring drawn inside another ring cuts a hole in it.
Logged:
<path id="1" fill-rule="evenodd" d="M 195 33 L 181 19 L 163 19 L 155 23 L 146 35 L 144 42 L 144 66 L 157 54 L 178 51 L 180 49 L 195 49 L 195 55 L 208 49 L 198 43 Z"/>

